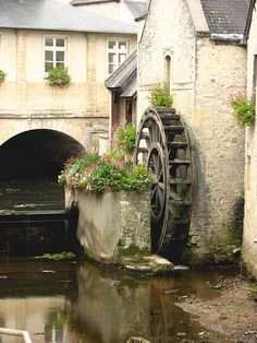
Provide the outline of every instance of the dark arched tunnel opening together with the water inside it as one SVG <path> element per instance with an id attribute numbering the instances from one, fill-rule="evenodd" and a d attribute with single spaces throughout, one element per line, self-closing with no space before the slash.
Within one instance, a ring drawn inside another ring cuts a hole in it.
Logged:
<path id="1" fill-rule="evenodd" d="M 0 146 L 0 210 L 64 209 L 64 190 L 58 175 L 65 161 L 83 145 L 54 130 L 20 133 Z"/>

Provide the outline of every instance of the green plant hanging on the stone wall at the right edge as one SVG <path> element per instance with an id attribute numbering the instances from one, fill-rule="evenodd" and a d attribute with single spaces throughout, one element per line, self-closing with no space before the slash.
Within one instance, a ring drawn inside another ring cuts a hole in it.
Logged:
<path id="1" fill-rule="evenodd" d="M 254 97 L 247 99 L 244 95 L 235 96 L 231 105 L 233 107 L 233 116 L 241 127 L 250 127 L 255 121 L 255 100 Z"/>

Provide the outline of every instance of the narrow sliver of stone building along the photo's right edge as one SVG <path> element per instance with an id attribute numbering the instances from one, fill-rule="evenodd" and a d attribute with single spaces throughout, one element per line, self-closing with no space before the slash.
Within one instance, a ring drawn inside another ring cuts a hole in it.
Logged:
<path id="1" fill-rule="evenodd" d="M 256 97 L 257 75 L 257 13 L 256 1 L 250 1 L 246 25 L 247 95 Z M 245 134 L 245 217 L 243 260 L 248 271 L 257 276 L 257 126 L 246 128 Z"/>

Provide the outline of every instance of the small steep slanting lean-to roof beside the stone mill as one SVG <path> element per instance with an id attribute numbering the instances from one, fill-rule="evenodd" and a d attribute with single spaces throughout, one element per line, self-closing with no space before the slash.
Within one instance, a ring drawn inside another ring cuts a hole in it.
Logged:
<path id="1" fill-rule="evenodd" d="M 131 84 L 131 79 L 136 75 L 137 51 L 134 51 L 107 80 L 109 90 L 121 88 L 123 92 Z"/>

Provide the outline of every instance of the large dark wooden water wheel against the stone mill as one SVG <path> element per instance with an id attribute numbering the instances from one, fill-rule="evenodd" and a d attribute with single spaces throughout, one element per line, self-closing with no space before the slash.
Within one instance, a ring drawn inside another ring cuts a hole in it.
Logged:
<path id="1" fill-rule="evenodd" d="M 151 249 L 172 256 L 187 239 L 191 217 L 192 164 L 182 118 L 173 108 L 148 108 L 139 122 L 136 164 L 155 174 L 151 185 Z"/>

